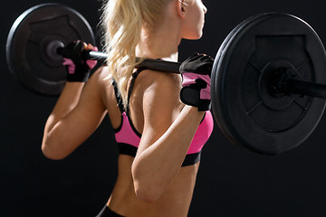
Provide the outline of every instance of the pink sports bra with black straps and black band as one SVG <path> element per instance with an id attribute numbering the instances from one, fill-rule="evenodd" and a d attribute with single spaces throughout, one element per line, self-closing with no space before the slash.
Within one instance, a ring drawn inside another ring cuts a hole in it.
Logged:
<path id="1" fill-rule="evenodd" d="M 134 81 L 141 71 L 144 71 L 144 68 L 139 68 L 138 71 L 132 74 L 132 80 L 129 86 L 128 91 L 128 103 L 129 98 L 131 96 L 131 90 L 133 88 Z M 132 124 L 131 119 L 129 118 L 129 107 L 127 107 L 127 111 L 125 111 L 122 100 L 120 99 L 117 83 L 113 80 L 112 85 L 114 87 L 114 92 L 116 99 L 118 101 L 118 106 L 121 112 L 121 124 L 120 127 L 114 129 L 115 131 L 115 139 L 119 147 L 120 155 L 127 156 L 136 156 L 141 134 L 137 131 L 137 129 Z M 199 127 L 197 128 L 197 132 L 195 137 L 193 138 L 188 151 L 187 156 L 182 164 L 182 166 L 187 165 L 195 165 L 200 160 L 201 150 L 203 146 L 206 144 L 206 141 L 212 134 L 214 127 L 213 117 L 210 111 L 206 111 L 204 118 L 202 119 Z"/>

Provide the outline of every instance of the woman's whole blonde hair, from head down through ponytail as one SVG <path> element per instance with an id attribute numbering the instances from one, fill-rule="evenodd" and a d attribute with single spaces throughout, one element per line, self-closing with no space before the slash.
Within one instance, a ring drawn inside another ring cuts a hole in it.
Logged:
<path id="1" fill-rule="evenodd" d="M 107 0 L 103 5 L 101 25 L 104 48 L 109 54 L 107 65 L 110 77 L 118 84 L 125 109 L 129 78 L 135 66 L 142 61 L 136 59 L 141 29 L 158 22 L 162 8 L 168 1 L 170 0 Z"/>

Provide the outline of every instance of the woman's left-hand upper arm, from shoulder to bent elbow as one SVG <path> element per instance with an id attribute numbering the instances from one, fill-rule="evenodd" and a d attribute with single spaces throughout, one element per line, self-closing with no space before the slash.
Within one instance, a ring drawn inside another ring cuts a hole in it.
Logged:
<path id="1" fill-rule="evenodd" d="M 101 124 L 106 108 L 101 97 L 100 72 L 94 72 L 85 84 L 74 109 L 47 133 L 43 140 L 43 146 L 46 147 L 45 156 L 53 159 L 68 156 Z"/>

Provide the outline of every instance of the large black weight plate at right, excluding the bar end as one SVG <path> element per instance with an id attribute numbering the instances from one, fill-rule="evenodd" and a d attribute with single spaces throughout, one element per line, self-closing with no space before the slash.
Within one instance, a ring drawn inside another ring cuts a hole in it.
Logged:
<path id="1" fill-rule="evenodd" d="M 270 71 L 286 67 L 296 79 L 326 83 L 324 47 L 312 27 L 291 14 L 259 14 L 237 26 L 217 53 L 212 109 L 233 143 L 276 155 L 299 146 L 317 126 L 324 99 L 275 97 Z"/>

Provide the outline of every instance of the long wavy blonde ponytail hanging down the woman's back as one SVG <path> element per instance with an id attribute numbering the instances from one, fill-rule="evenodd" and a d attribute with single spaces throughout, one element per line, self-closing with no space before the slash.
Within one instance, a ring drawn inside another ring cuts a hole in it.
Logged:
<path id="1" fill-rule="evenodd" d="M 123 105 L 127 105 L 127 86 L 136 62 L 140 41 L 141 14 L 134 0 L 110 0 L 104 7 L 105 50 L 111 77 L 116 80 Z"/>

